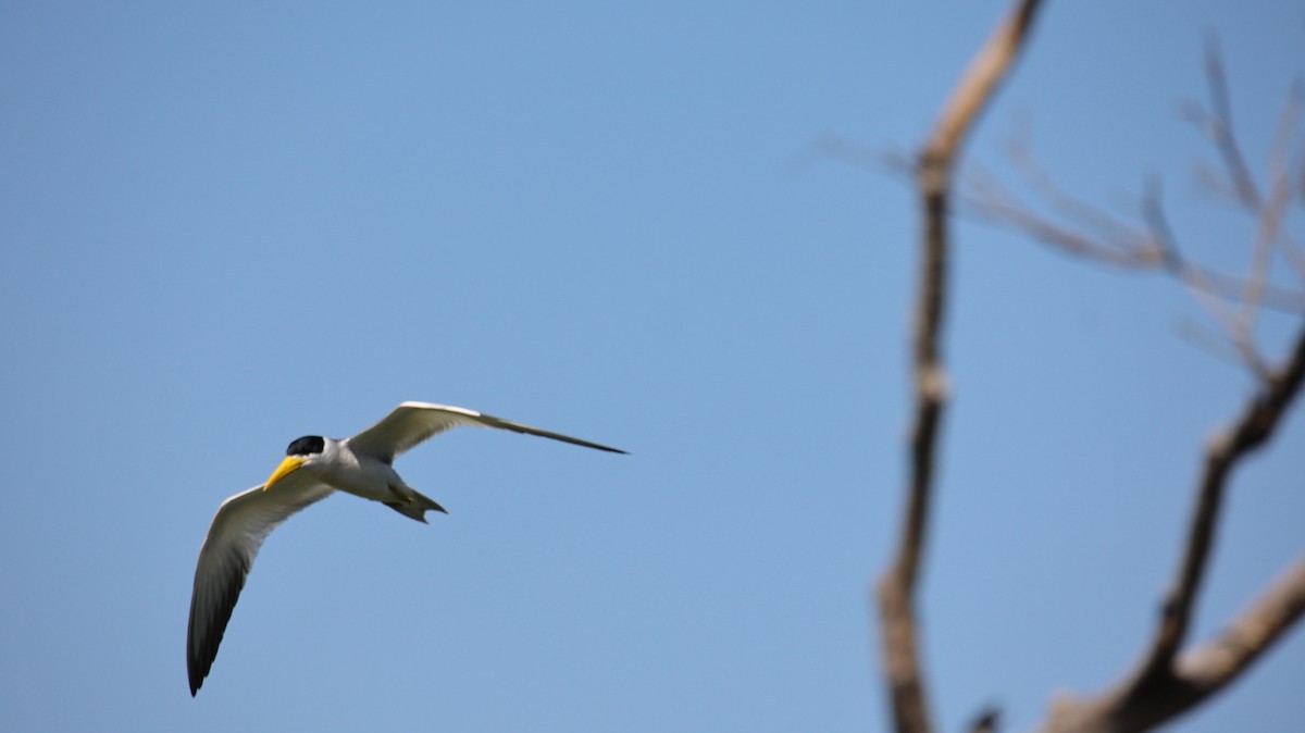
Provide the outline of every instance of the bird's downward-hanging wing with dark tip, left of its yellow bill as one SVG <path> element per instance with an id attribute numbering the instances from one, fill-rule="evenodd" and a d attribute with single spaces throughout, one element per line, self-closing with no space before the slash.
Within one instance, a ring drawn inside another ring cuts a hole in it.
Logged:
<path id="1" fill-rule="evenodd" d="M 209 536 L 200 549 L 191 596 L 191 625 L 185 639 L 185 666 L 191 695 L 204 685 L 218 644 L 231 620 L 231 610 L 244 588 L 262 541 L 290 515 L 328 497 L 333 489 L 305 472 L 286 476 L 270 492 L 257 485 L 218 507 Z"/>

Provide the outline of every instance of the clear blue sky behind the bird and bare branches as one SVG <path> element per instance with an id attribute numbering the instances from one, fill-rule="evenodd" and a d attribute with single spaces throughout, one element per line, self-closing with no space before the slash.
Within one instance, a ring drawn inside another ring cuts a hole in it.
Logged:
<path id="1" fill-rule="evenodd" d="M 809 153 L 917 145 L 1005 8 L 0 5 L 0 728 L 882 730 L 916 214 Z M 1262 171 L 1285 0 L 1051 1 L 970 150 L 1030 128 L 1103 202 L 1163 176 L 1240 267 L 1174 115 L 1208 30 Z M 927 663 L 941 730 L 1022 730 L 1135 660 L 1250 382 L 1161 278 L 963 224 L 954 286 Z M 429 527 L 313 506 L 192 699 L 218 503 L 408 399 L 632 455 L 462 430 L 397 466 Z M 1198 638 L 1301 552 L 1302 446 L 1297 410 L 1236 476 Z M 1172 729 L 1295 729 L 1301 680 L 1297 630 Z"/>

